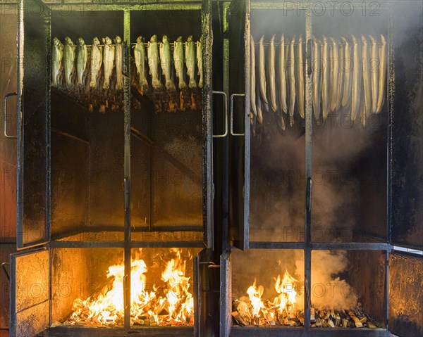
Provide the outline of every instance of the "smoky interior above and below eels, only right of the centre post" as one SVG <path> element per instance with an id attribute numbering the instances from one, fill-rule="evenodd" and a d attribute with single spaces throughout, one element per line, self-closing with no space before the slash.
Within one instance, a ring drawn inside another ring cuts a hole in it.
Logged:
<path id="1" fill-rule="evenodd" d="M 354 11 L 314 15 L 313 35 L 352 42 L 353 34 L 362 44 L 369 36 L 381 44 L 388 41 L 391 12 L 383 6 L 378 16 Z M 360 46 L 362 48 L 362 46 Z M 361 51 L 362 49 L 359 49 Z M 389 55 L 389 54 L 388 54 Z M 388 56 L 389 57 L 389 56 Z M 348 69 L 345 61 L 345 69 Z M 379 74 L 377 60 L 363 61 Z M 342 65 L 341 65 L 342 66 Z M 326 122 L 314 122 L 312 139 L 312 240 L 317 242 L 372 242 L 387 239 L 387 153 L 388 80 L 381 112 L 370 115 L 365 127 L 349 108 L 330 113 Z M 361 95 L 360 101 L 364 101 Z"/>

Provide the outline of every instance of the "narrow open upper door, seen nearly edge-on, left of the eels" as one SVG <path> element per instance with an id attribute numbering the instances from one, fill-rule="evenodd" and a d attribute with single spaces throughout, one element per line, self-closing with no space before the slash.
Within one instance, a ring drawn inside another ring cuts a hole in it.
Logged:
<path id="1" fill-rule="evenodd" d="M 250 1 L 232 1 L 226 13 L 229 51 L 229 236 L 232 246 L 248 248 L 250 205 Z"/>

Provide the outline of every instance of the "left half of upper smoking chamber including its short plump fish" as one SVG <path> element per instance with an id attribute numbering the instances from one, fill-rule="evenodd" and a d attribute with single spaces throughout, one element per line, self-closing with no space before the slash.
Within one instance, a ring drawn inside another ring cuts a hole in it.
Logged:
<path id="1" fill-rule="evenodd" d="M 52 71 L 55 48 L 63 48 L 57 84 L 55 75 L 51 82 L 54 239 L 123 236 L 123 91 L 119 63 L 114 63 L 118 36 L 123 36 L 123 11 L 51 11 Z M 106 46 L 92 46 L 96 37 L 105 38 Z"/>

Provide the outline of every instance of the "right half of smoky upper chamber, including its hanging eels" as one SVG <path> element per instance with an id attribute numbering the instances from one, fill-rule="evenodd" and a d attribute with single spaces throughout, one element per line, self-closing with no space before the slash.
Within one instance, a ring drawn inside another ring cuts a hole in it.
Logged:
<path id="1" fill-rule="evenodd" d="M 383 60 L 388 60 L 391 11 L 381 6 L 371 15 L 370 8 L 366 14 L 362 9 L 355 6 L 345 15 L 341 6 L 334 14 L 312 16 L 313 74 L 315 82 L 321 79 L 313 97 L 314 241 L 387 238 L 388 90 Z"/>

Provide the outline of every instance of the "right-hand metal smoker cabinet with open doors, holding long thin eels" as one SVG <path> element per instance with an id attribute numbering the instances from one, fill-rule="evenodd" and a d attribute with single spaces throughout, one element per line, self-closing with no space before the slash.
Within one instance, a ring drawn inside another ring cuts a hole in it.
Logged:
<path id="1" fill-rule="evenodd" d="M 399 271 L 405 258 L 392 249 L 423 247 L 423 102 L 419 94 L 423 82 L 421 59 L 415 58 L 423 46 L 421 4 L 353 1 L 348 11 L 341 3 L 325 8 L 325 4 L 306 1 L 226 1 L 223 6 L 223 60 L 231 102 L 228 244 L 232 250 L 246 250 L 246 256 L 253 250 L 264 252 L 263 256 L 302 252 L 306 293 L 302 328 L 233 326 L 236 270 L 238 280 L 253 273 L 237 268 L 234 253 L 223 254 L 221 336 L 389 336 L 390 331 L 418 336 L 421 319 L 405 304 L 400 307 L 410 316 L 393 308 L 406 300 L 405 288 L 412 293 L 414 282 L 421 281 L 421 272 L 412 276 L 421 258 L 407 256 L 410 267 Z M 277 42 L 281 34 L 288 43 L 293 37 L 296 43 L 300 36 L 303 41 L 305 118 L 295 107 L 294 125 L 286 123 L 285 131 L 278 128 L 276 113 L 263 113 L 263 125 L 251 117 L 250 35 L 257 68 L 257 42 L 264 35 L 266 49 L 273 34 Z M 358 120 L 345 125 L 341 114 L 329 114 L 326 122 L 314 120 L 312 39 L 323 35 L 350 39 L 351 34 L 360 41 L 362 34 L 384 34 L 388 46 L 384 106 L 365 128 Z M 313 255 L 325 250 L 346 252 L 351 265 L 348 281 L 364 307 L 381 319 L 383 329 L 311 327 L 313 303 L 307 285 L 312 285 Z M 364 257 L 368 257 L 367 267 L 361 267 L 364 270 L 357 278 L 353 270 L 360 269 Z M 263 262 L 248 261 L 250 268 L 262 273 L 259 264 Z M 410 280 L 401 290 L 400 273 Z M 413 297 L 412 307 L 416 305 L 422 306 L 422 296 Z"/>

